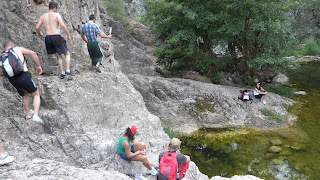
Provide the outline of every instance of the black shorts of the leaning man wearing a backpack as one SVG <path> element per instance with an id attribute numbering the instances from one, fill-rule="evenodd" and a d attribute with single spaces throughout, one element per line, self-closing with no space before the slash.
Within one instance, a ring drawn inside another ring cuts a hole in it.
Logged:
<path id="1" fill-rule="evenodd" d="M 23 72 L 17 77 L 8 78 L 10 83 L 17 89 L 20 96 L 24 96 L 25 90 L 29 94 L 37 91 L 37 86 L 34 83 L 30 72 Z"/>

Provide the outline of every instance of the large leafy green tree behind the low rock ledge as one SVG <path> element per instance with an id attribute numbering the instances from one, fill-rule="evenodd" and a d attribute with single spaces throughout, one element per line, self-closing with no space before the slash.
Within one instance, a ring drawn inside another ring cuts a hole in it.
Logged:
<path id="1" fill-rule="evenodd" d="M 286 62 L 278 56 L 291 38 L 287 14 L 295 3 L 285 0 L 147 0 L 146 3 L 146 20 L 163 40 L 155 54 L 158 62 L 168 69 L 192 68 L 213 75 L 217 70 L 226 70 L 230 64 L 221 61 L 228 60 L 252 76 L 257 67 Z M 227 46 L 222 60 L 212 51 L 217 45 Z M 264 57 L 268 60 L 257 65 L 257 60 Z"/>

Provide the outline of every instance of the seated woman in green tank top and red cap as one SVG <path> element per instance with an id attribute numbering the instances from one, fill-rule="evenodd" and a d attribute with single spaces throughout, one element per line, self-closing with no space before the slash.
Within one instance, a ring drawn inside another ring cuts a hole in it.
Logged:
<path id="1" fill-rule="evenodd" d="M 157 170 L 151 167 L 146 156 L 147 145 L 134 139 L 137 133 L 137 127 L 127 128 L 126 132 L 120 137 L 118 144 L 118 153 L 120 157 L 126 161 L 141 161 L 148 168 L 147 173 L 157 175 Z"/>

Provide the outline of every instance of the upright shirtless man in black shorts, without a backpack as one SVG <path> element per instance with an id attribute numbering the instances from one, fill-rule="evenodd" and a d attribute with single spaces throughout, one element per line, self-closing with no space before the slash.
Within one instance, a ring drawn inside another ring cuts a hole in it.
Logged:
<path id="1" fill-rule="evenodd" d="M 58 64 L 60 68 L 60 78 L 63 79 L 66 75 L 73 76 L 70 71 L 70 53 L 66 44 L 66 40 L 60 35 L 60 26 L 62 30 L 67 34 L 67 39 L 71 42 L 71 36 L 67 29 L 67 26 L 62 21 L 61 15 L 57 13 L 57 3 L 50 2 L 49 11 L 43 14 L 36 26 L 36 31 L 39 36 L 42 36 L 40 27 L 43 24 L 46 29 L 46 49 L 48 54 L 56 54 Z M 63 68 L 62 54 L 65 55 L 66 60 L 66 71 Z"/>

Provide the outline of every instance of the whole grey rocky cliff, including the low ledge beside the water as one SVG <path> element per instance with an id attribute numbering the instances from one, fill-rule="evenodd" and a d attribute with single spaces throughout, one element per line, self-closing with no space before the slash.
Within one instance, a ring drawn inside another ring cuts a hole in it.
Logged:
<path id="1" fill-rule="evenodd" d="M 45 122 L 39 125 L 24 119 L 21 97 L 1 77 L 0 140 L 16 160 L 0 167 L 0 179 L 131 179 L 146 169 L 117 155 L 118 138 L 130 125 L 138 126 L 137 140 L 147 143 L 147 156 L 157 166 L 158 154 L 169 142 L 163 124 L 184 124 L 184 132 L 200 127 L 270 128 L 279 125 L 264 121 L 266 117 L 259 109 L 286 114 L 283 104 L 292 103 L 271 94 L 270 105 L 256 102 L 246 106 L 234 98 L 240 88 L 159 77 L 153 59 L 146 55 L 151 40 L 145 29 L 127 38 L 122 24 L 113 21 L 98 0 L 56 1 L 73 38 L 68 47 L 71 69 L 76 74 L 73 80 L 60 80 L 55 57 L 46 54 L 44 38 L 34 31 L 48 2 L 0 1 L 0 43 L 11 39 L 40 57 L 44 74 L 34 75 L 34 79 Z M 86 45 L 79 34 L 90 14 L 99 17 L 104 32 L 113 28 L 111 41 L 100 39 L 105 55 L 101 74 L 91 72 Z M 112 63 L 107 63 L 109 59 Z M 28 66 L 35 69 L 31 60 Z M 208 177 L 191 163 L 186 179 Z"/>

